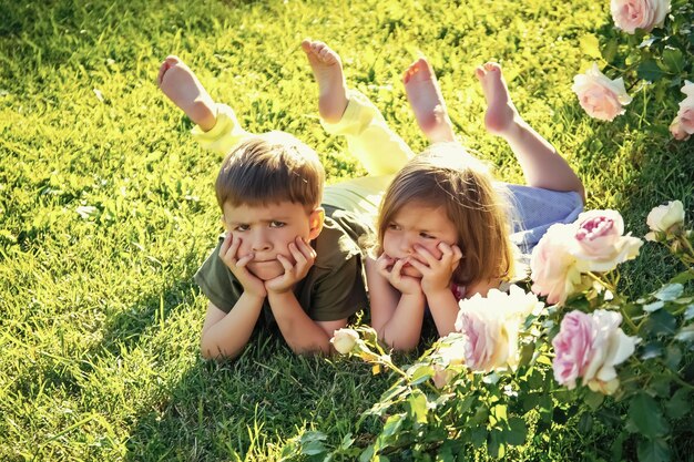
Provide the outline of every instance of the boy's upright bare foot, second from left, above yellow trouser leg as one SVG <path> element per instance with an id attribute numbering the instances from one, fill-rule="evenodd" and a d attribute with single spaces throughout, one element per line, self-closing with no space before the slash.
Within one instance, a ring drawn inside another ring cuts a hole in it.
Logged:
<path id="1" fill-rule="evenodd" d="M 337 123 L 347 109 L 347 84 L 339 55 L 317 40 L 304 40 L 302 49 L 318 83 L 318 112 L 327 123 Z"/>

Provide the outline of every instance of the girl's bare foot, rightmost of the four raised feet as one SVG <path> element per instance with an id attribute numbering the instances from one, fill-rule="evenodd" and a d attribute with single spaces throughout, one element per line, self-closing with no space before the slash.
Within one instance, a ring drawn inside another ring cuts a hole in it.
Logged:
<path id="1" fill-rule="evenodd" d="M 501 74 L 501 66 L 488 62 L 477 68 L 474 75 L 482 84 L 482 93 L 487 100 L 487 113 L 484 114 L 487 131 L 503 136 L 520 115 L 511 101 L 509 89 Z"/>

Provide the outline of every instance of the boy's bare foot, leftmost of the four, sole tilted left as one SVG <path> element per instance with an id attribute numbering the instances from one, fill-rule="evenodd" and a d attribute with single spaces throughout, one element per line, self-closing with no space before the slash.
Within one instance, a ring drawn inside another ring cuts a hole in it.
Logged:
<path id="1" fill-rule="evenodd" d="M 193 71 L 177 57 L 166 57 L 159 69 L 159 88 L 203 131 L 216 123 L 215 104 Z"/>

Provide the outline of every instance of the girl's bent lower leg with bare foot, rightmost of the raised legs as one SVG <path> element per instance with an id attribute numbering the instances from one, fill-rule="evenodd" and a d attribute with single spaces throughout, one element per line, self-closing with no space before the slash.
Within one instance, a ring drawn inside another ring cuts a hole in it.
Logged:
<path id="1" fill-rule="evenodd" d="M 518 113 L 501 66 L 488 62 L 477 68 L 474 74 L 487 100 L 487 131 L 509 143 L 528 185 L 552 191 L 574 191 L 585 198 L 583 184 L 567 161 Z"/>

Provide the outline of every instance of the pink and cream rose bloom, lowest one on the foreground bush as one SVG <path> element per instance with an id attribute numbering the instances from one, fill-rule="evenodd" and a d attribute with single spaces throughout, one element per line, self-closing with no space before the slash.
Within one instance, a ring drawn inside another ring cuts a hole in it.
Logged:
<path id="1" fill-rule="evenodd" d="M 592 315 L 574 310 L 564 316 L 552 340 L 555 357 L 554 379 L 569 389 L 578 378 L 593 391 L 612 394 L 619 387 L 615 366 L 635 349 L 636 338 L 627 337 L 619 327 L 619 312 L 595 310 Z"/>

